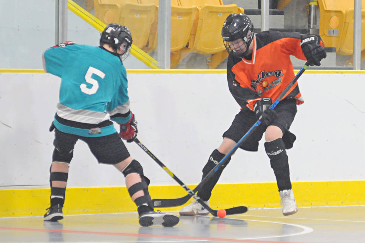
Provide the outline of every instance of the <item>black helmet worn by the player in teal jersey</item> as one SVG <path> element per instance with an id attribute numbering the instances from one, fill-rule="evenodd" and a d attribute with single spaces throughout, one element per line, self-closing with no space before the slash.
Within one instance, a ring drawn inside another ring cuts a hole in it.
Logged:
<path id="1" fill-rule="evenodd" d="M 131 52 L 132 34 L 128 27 L 119 24 L 108 24 L 100 34 L 100 46 L 109 44 L 116 52 L 122 44 L 126 45 L 125 52 L 120 55 L 120 60 L 124 60 Z"/>

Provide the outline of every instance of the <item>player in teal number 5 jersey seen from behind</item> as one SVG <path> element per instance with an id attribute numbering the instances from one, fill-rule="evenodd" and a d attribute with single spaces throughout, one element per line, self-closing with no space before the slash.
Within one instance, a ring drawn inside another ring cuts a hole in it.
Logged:
<path id="1" fill-rule="evenodd" d="M 101 33 L 99 47 L 63 42 L 43 53 L 44 70 L 61 78 L 59 103 L 50 127 L 50 132 L 54 130 L 54 150 L 50 207 L 43 216 L 45 221 L 64 218 L 69 164 L 75 144 L 81 140 L 99 163 L 113 165 L 123 174 L 141 226 L 172 227 L 179 222 L 175 215 L 154 211 L 148 190 L 150 180 L 122 141 L 133 142 L 138 132 L 122 63 L 130 54 L 131 45 L 130 30 L 112 23 Z M 120 125 L 120 132 L 113 121 Z"/>

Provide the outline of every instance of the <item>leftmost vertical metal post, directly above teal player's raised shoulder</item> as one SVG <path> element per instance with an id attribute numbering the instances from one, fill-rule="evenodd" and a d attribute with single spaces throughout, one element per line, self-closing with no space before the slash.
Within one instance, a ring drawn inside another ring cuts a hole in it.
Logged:
<path id="1" fill-rule="evenodd" d="M 67 40 L 67 0 L 55 1 L 55 44 Z"/>

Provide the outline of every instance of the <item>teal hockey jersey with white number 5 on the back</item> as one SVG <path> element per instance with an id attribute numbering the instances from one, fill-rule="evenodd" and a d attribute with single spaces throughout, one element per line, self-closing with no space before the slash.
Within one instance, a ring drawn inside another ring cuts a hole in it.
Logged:
<path id="1" fill-rule="evenodd" d="M 127 74 L 118 55 L 101 47 L 73 44 L 51 47 L 43 53 L 43 68 L 61 78 L 57 117 L 68 124 L 54 125 L 61 132 L 80 136 L 105 136 L 116 132 L 111 126 L 97 134 L 80 132 L 85 126 L 109 119 L 120 124 L 130 118 Z M 88 130 L 88 129 L 84 129 Z"/>

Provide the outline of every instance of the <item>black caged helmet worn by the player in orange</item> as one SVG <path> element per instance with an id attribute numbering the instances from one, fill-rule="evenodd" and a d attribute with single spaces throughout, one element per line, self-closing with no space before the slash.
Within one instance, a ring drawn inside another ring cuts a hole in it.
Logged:
<path id="1" fill-rule="evenodd" d="M 254 36 L 253 23 L 244 13 L 232 13 L 224 21 L 222 28 L 223 43 L 228 53 L 234 53 L 240 58 L 246 56 Z M 229 42 L 242 39 L 246 43 L 246 51 L 237 52 Z"/>

